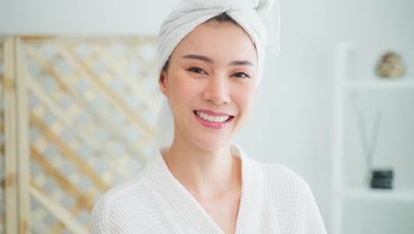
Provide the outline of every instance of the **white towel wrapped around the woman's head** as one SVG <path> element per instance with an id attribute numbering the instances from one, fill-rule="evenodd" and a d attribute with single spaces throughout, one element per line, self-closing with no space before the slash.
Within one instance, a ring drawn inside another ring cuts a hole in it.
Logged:
<path id="1" fill-rule="evenodd" d="M 279 5 L 277 0 L 183 0 L 164 20 L 158 35 L 158 66 L 161 73 L 175 47 L 194 28 L 226 12 L 246 31 L 257 50 L 257 83 L 260 83 L 265 48 L 269 35 L 269 49 L 279 53 Z M 266 28 L 266 26 L 268 28 Z M 155 136 L 156 150 L 169 147 L 173 142 L 173 113 L 167 100 L 163 100 L 158 115 Z"/>

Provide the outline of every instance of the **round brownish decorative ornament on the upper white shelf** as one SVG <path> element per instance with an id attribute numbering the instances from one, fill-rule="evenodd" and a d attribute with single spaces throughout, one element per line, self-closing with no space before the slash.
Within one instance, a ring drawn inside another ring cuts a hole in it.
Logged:
<path id="1" fill-rule="evenodd" d="M 399 78 L 405 73 L 403 60 L 395 52 L 384 53 L 376 68 L 377 75 L 383 78 Z"/>

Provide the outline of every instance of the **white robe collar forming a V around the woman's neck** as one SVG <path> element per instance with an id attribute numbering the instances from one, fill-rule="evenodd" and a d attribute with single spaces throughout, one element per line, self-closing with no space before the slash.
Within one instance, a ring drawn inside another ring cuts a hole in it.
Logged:
<path id="1" fill-rule="evenodd" d="M 232 155 L 242 160 L 242 192 L 235 233 L 259 233 L 264 181 L 258 163 L 236 144 Z M 143 170 L 154 198 L 175 233 L 224 233 L 196 198 L 173 176 L 160 152 Z"/>

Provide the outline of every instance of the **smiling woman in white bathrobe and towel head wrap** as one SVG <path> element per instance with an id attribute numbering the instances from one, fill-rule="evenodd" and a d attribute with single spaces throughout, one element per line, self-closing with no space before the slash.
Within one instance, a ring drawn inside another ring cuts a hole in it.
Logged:
<path id="1" fill-rule="evenodd" d="M 256 99 L 271 7 L 183 1 L 165 20 L 159 86 L 173 140 L 99 199 L 92 233 L 326 233 L 300 177 L 232 143 Z"/>

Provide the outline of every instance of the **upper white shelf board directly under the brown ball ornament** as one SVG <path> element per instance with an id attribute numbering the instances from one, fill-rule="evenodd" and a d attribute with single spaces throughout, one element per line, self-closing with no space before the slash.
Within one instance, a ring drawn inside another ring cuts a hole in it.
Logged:
<path id="1" fill-rule="evenodd" d="M 387 78 L 364 82 L 348 82 L 349 90 L 414 90 L 414 79 Z"/>

